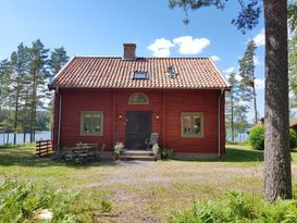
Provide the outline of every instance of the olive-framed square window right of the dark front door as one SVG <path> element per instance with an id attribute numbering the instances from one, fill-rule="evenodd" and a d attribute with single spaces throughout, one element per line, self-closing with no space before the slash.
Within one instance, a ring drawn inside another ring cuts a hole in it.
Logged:
<path id="1" fill-rule="evenodd" d="M 181 115 L 182 137 L 203 137 L 203 114 L 199 112 L 183 112 Z"/>

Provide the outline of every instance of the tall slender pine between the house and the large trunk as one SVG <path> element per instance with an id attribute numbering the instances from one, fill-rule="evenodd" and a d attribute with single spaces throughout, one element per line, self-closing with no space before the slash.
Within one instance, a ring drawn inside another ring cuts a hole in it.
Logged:
<path id="1" fill-rule="evenodd" d="M 250 40 L 247 45 L 244 57 L 239 60 L 239 75 L 242 76 L 242 94 L 243 100 L 251 102 L 253 101 L 253 119 L 255 124 L 258 123 L 257 116 L 257 94 L 255 86 L 255 50 L 257 49 L 253 40 Z"/>

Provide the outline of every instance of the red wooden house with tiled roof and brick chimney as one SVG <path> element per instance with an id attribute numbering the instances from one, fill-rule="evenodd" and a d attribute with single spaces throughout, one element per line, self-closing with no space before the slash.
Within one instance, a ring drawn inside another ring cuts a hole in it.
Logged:
<path id="1" fill-rule="evenodd" d="M 53 141 L 115 141 L 132 150 L 158 144 L 184 159 L 225 152 L 224 92 L 230 85 L 209 58 L 74 57 L 49 84 L 54 90 Z"/>

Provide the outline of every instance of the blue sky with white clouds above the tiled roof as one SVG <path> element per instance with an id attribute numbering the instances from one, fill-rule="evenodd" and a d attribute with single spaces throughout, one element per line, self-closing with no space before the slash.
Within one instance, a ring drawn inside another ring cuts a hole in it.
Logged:
<path id="1" fill-rule="evenodd" d="M 38 38 L 50 49 L 63 46 L 70 57 L 122 55 L 123 44 L 134 42 L 138 57 L 211 57 L 227 76 L 238 71 L 238 60 L 253 39 L 258 110 L 263 116 L 263 16 L 243 35 L 231 24 L 238 14 L 237 1 L 227 2 L 223 11 L 189 11 L 188 25 L 184 11 L 169 9 L 168 0 L 0 0 L 0 60 L 20 42 L 29 46 Z"/>

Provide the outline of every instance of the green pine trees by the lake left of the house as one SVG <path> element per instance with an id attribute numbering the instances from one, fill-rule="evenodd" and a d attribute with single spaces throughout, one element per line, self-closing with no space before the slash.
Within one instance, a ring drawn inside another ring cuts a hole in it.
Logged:
<path id="1" fill-rule="evenodd" d="M 67 60 L 63 47 L 49 60 L 49 49 L 37 39 L 29 47 L 21 42 L 10 59 L 0 61 L 0 132 L 30 133 L 34 141 L 36 129 L 49 129 L 52 94 L 46 84 Z"/>

